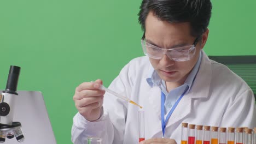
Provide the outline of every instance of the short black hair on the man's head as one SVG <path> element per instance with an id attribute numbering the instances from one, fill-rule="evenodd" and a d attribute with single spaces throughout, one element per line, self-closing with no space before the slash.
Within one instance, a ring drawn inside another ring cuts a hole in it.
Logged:
<path id="1" fill-rule="evenodd" d="M 199 37 L 209 25 L 212 3 L 210 0 L 143 0 L 138 20 L 144 32 L 145 21 L 150 11 L 162 21 L 189 22 L 191 35 Z"/>

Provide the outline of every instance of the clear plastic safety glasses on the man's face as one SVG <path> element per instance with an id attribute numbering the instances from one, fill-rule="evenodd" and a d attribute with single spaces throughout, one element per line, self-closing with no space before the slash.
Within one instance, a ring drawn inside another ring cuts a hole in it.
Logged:
<path id="1" fill-rule="evenodd" d="M 153 59 L 161 59 L 164 55 L 167 55 L 173 61 L 184 62 L 189 61 L 195 55 L 195 45 L 197 44 L 199 37 L 197 37 L 193 45 L 175 47 L 172 49 L 162 49 L 147 43 L 146 40 L 141 40 L 143 52 L 146 56 Z"/>

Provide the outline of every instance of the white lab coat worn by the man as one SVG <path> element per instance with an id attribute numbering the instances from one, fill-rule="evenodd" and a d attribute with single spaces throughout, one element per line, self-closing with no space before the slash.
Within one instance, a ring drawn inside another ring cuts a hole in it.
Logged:
<path id="1" fill-rule="evenodd" d="M 165 137 L 181 141 L 181 123 L 217 127 L 256 127 L 256 106 L 251 88 L 225 65 L 202 52 L 202 61 L 190 91 L 184 95 L 166 125 Z M 111 83 L 110 89 L 142 105 L 145 138 L 162 137 L 160 88 L 146 81 L 152 65 L 148 57 L 133 59 Z M 79 113 L 73 118 L 72 141 L 86 143 L 99 136 L 103 143 L 138 143 L 139 107 L 109 93 L 104 95 L 103 115 L 95 122 Z"/>

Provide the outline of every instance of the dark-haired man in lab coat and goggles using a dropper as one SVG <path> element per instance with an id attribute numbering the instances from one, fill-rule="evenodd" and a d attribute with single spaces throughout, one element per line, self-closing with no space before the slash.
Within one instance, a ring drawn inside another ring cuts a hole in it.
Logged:
<path id="1" fill-rule="evenodd" d="M 210 0 L 143 0 L 139 22 L 147 56 L 133 59 L 109 86 L 142 105 L 146 140 L 141 143 L 180 143 L 182 122 L 256 126 L 251 88 L 202 50 L 211 9 Z M 75 89 L 79 112 L 72 141 L 98 136 L 103 143 L 138 143 L 139 107 L 105 93 L 101 84 L 84 82 Z"/>

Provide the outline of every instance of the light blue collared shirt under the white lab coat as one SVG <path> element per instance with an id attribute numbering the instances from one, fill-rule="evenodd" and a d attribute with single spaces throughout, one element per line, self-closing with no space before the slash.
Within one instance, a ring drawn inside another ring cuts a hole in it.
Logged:
<path id="1" fill-rule="evenodd" d="M 160 78 L 158 73 L 152 67 L 152 70 L 150 70 L 150 73 L 149 73 L 149 77 L 147 78 L 147 82 L 150 87 L 159 86 L 161 91 L 166 95 L 165 113 L 171 110 L 174 103 L 177 101 L 179 97 L 181 97 L 182 93 L 185 91 L 185 89 L 187 89 L 187 87 L 188 87 L 187 93 L 190 91 L 190 88 L 193 85 L 196 74 L 199 70 L 201 61 L 202 61 L 202 52 L 200 51 L 199 58 L 197 59 L 195 67 L 193 68 L 193 70 L 191 70 L 184 84 L 177 88 L 172 89 L 169 93 L 166 90 L 165 81 Z"/>

